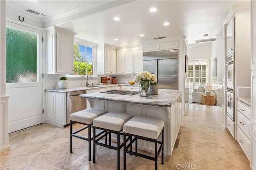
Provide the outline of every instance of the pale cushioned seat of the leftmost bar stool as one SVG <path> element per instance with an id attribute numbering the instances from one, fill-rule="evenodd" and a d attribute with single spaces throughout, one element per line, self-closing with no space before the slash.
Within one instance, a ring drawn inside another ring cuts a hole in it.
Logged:
<path id="1" fill-rule="evenodd" d="M 70 115 L 70 121 L 76 121 L 76 122 L 91 125 L 93 119 L 95 119 L 96 117 L 103 115 L 105 113 L 108 113 L 108 111 L 100 110 L 100 109 L 93 109 L 93 108 L 84 109 L 84 110 L 72 113 Z"/>

